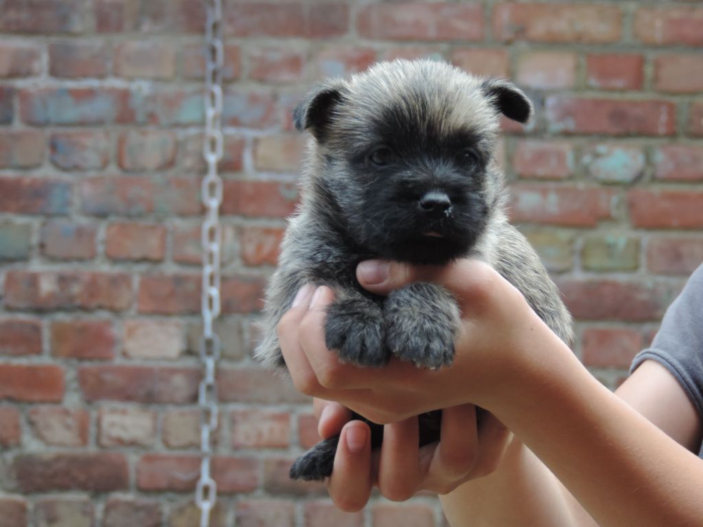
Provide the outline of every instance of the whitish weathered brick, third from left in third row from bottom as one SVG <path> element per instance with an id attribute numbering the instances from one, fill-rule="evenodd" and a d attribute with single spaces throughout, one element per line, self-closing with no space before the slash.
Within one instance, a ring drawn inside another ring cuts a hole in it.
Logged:
<path id="1" fill-rule="evenodd" d="M 101 408 L 98 413 L 98 444 L 103 448 L 150 447 L 156 441 L 156 414 L 131 406 Z"/>

